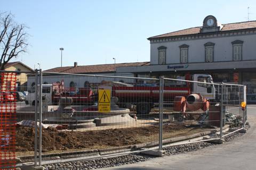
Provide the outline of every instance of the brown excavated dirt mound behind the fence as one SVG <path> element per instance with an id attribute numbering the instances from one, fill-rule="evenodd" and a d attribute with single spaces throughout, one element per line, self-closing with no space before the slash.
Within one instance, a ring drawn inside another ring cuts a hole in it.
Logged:
<path id="1" fill-rule="evenodd" d="M 173 135 L 174 132 L 182 132 L 183 129 L 186 129 L 186 133 L 194 128 L 185 128 L 184 125 L 165 125 L 163 127 L 165 133 Z M 156 140 L 158 130 L 158 126 L 85 132 L 58 131 L 55 128 L 47 128 L 42 130 L 42 151 L 135 145 Z M 34 128 L 17 128 L 17 151 L 33 151 L 34 137 Z"/>

